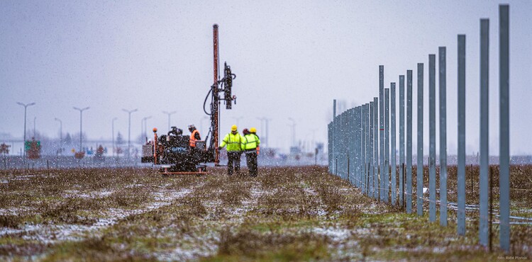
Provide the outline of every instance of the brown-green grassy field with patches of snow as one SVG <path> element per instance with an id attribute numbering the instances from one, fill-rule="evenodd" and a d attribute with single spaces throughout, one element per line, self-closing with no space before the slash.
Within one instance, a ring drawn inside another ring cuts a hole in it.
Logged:
<path id="1" fill-rule="evenodd" d="M 4 172 L 0 260 L 532 259 L 531 226 L 512 226 L 511 254 L 496 248 L 489 253 L 477 245 L 477 220 L 468 219 L 467 235 L 458 237 L 455 222 L 440 227 L 428 222 L 427 215 L 406 215 L 367 198 L 325 167 L 260 168 L 256 178 L 228 177 L 225 169 L 211 173 L 162 177 L 150 169 Z M 450 181 L 452 177 L 450 171 Z M 522 194 L 514 196 L 515 208 L 530 203 L 532 198 Z M 470 198 L 468 203 L 475 201 Z M 521 209 L 525 215 L 531 212 Z M 449 215 L 455 217 L 452 210 Z"/>

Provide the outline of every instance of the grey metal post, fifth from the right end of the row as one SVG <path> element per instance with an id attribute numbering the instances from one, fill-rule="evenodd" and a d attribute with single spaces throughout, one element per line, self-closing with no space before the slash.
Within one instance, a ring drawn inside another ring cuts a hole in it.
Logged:
<path id="1" fill-rule="evenodd" d="M 428 215 L 436 221 L 436 55 L 428 55 Z"/>

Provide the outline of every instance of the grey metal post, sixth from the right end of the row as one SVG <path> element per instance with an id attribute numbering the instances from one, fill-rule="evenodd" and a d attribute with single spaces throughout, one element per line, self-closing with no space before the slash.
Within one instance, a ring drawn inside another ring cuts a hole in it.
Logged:
<path id="1" fill-rule="evenodd" d="M 423 63 L 418 63 L 418 151 L 417 151 L 417 201 L 418 215 L 423 215 Z"/>

